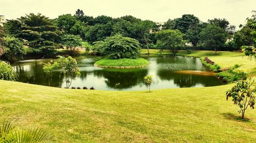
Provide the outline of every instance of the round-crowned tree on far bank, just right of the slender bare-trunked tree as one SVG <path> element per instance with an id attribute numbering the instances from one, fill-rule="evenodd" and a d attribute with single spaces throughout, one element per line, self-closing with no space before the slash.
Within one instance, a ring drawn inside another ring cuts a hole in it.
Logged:
<path id="1" fill-rule="evenodd" d="M 179 30 L 162 30 L 157 33 L 157 47 L 170 48 L 175 56 L 175 49 L 181 46 L 183 41 L 183 34 Z"/>

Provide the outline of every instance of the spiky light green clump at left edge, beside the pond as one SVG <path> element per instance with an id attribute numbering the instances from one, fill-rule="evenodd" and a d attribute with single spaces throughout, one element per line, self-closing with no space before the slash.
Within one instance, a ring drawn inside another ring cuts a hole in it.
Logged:
<path id="1" fill-rule="evenodd" d="M 0 61 L 0 79 L 16 81 L 18 74 L 12 69 L 8 62 Z"/>

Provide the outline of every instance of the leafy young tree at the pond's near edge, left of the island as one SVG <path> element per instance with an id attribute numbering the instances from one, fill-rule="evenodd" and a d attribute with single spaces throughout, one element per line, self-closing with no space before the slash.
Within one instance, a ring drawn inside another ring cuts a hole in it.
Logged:
<path id="1" fill-rule="evenodd" d="M 68 58 L 65 58 L 63 56 L 59 57 L 59 64 L 62 67 L 61 72 L 65 75 L 65 81 L 66 81 L 66 88 L 69 88 L 72 81 L 80 76 L 79 68 L 76 66 L 76 60 L 73 59 L 71 56 L 68 56 Z"/>

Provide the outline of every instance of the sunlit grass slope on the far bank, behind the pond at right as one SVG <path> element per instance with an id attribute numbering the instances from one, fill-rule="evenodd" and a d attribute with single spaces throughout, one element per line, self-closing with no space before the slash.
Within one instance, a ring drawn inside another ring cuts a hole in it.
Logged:
<path id="1" fill-rule="evenodd" d="M 141 50 L 142 53 L 147 53 L 146 49 Z M 150 53 L 159 54 L 158 49 L 151 49 Z M 163 54 L 172 54 L 171 50 L 164 50 Z M 244 70 L 248 73 L 249 77 L 256 76 L 256 63 L 254 59 L 249 60 L 243 52 L 236 51 L 218 51 L 217 54 L 215 51 L 191 51 L 188 53 L 185 50 L 179 50 L 178 55 L 187 55 L 187 56 L 197 56 L 199 58 L 205 58 L 206 56 L 214 61 L 216 64 L 221 66 L 221 68 L 231 68 L 234 65 L 238 64 L 240 67 L 237 70 Z"/>

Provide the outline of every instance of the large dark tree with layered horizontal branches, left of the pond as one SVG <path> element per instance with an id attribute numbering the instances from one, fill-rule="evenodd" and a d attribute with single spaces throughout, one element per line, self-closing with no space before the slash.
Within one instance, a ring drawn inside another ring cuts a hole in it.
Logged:
<path id="1" fill-rule="evenodd" d="M 59 48 L 60 31 L 48 17 L 40 13 L 31 13 L 20 17 L 19 20 L 22 22 L 20 37 L 26 40 L 25 44 L 34 51 L 50 55 L 55 52 L 56 48 Z"/>

